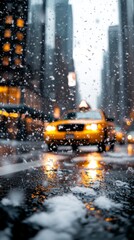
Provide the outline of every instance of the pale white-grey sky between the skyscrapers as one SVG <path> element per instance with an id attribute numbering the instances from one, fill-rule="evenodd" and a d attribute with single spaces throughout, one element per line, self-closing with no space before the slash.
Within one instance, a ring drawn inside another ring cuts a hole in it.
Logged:
<path id="1" fill-rule="evenodd" d="M 108 26 L 118 24 L 117 0 L 71 0 L 74 14 L 74 59 L 83 99 L 96 107 Z"/>

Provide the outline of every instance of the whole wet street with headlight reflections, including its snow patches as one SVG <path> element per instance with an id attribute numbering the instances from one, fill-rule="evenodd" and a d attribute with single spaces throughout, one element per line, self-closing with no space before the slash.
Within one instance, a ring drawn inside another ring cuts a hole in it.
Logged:
<path id="1" fill-rule="evenodd" d="M 0 145 L 0 239 L 133 239 L 134 145 Z"/>

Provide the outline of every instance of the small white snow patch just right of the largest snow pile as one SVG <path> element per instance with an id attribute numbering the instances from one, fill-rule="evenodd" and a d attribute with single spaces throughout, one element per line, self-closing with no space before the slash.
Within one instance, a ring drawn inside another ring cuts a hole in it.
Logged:
<path id="1" fill-rule="evenodd" d="M 95 199 L 94 205 L 98 208 L 109 210 L 111 208 L 121 208 L 122 204 L 115 203 L 113 200 L 107 198 L 106 196 L 100 196 Z"/>

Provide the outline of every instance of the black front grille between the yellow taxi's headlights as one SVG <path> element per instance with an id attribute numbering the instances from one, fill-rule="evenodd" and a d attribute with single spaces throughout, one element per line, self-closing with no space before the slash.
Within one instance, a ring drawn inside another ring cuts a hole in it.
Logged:
<path id="1" fill-rule="evenodd" d="M 58 125 L 59 132 L 76 132 L 76 131 L 83 131 L 84 124 L 62 124 Z"/>

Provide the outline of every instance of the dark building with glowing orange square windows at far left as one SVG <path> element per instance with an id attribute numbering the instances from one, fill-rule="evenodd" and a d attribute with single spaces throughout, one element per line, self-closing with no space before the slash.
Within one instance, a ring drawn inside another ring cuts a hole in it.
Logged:
<path id="1" fill-rule="evenodd" d="M 0 1 L 0 6 L 0 102 L 43 110 L 40 66 L 43 66 L 45 17 L 42 17 L 41 28 L 38 27 L 41 20 L 34 14 L 45 14 L 44 2 L 38 1 L 36 10 L 36 1 L 32 0 Z M 31 27 L 36 28 L 36 33 Z"/>

